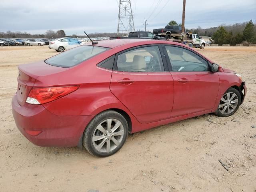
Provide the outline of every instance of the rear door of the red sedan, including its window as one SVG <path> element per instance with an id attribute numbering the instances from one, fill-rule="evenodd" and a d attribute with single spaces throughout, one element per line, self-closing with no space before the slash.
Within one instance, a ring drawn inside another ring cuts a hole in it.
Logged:
<path id="1" fill-rule="evenodd" d="M 139 46 L 115 57 L 110 90 L 142 124 L 171 116 L 174 82 L 161 50 Z"/>

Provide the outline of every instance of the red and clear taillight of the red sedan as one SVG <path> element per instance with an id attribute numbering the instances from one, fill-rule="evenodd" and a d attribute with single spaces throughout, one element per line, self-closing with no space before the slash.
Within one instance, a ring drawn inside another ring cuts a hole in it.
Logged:
<path id="1" fill-rule="evenodd" d="M 77 90 L 79 86 L 32 88 L 26 103 L 40 105 L 64 97 Z"/>

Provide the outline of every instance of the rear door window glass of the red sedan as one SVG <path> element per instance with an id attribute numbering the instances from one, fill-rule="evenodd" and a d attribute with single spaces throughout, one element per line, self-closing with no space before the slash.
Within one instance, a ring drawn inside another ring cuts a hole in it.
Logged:
<path id="1" fill-rule="evenodd" d="M 160 72 L 164 66 L 158 46 L 137 48 L 118 55 L 117 70 L 125 72 Z"/>

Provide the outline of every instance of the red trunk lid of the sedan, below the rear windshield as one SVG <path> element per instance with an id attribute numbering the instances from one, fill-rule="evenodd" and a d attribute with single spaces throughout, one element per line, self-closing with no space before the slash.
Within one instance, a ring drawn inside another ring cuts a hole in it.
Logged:
<path id="1" fill-rule="evenodd" d="M 18 87 L 17 87 L 17 100 L 20 106 L 26 102 L 28 94 L 39 76 L 46 76 L 68 68 L 56 67 L 46 64 L 44 61 L 31 64 L 23 64 L 18 66 Z"/>

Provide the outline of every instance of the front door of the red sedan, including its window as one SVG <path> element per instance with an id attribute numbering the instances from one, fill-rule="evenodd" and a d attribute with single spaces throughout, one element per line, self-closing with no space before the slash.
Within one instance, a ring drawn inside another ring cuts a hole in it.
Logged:
<path id="1" fill-rule="evenodd" d="M 208 61 L 181 46 L 165 45 L 166 59 L 174 79 L 172 117 L 211 110 L 219 89 L 219 76 Z"/>

